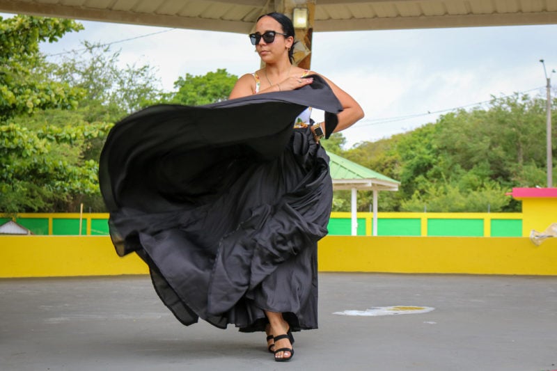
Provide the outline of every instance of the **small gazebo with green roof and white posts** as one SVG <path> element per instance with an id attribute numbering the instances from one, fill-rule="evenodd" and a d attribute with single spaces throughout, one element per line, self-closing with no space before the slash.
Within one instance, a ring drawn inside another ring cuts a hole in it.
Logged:
<path id="1" fill-rule="evenodd" d="M 352 214 L 352 236 L 356 235 L 358 228 L 357 212 L 357 192 L 358 190 L 373 191 L 373 225 L 372 235 L 377 236 L 377 199 L 379 191 L 398 191 L 400 182 L 385 175 L 372 171 L 365 166 L 361 166 L 343 157 L 328 153 L 331 158 L 331 177 L 333 178 L 333 189 L 335 191 L 350 190 L 352 198 L 350 200 L 350 212 Z"/>

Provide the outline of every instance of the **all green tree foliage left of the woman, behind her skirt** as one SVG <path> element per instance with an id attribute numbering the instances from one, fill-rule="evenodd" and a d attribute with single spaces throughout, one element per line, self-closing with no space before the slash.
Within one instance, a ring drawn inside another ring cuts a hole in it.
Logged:
<path id="1" fill-rule="evenodd" d="M 120 52 L 98 43 L 86 41 L 56 63 L 40 54 L 39 42 L 81 28 L 64 19 L 0 19 L 0 212 L 74 212 L 81 202 L 104 211 L 98 159 L 113 123 L 149 104 L 226 99 L 237 79 L 226 70 L 186 74 L 165 94 L 154 68 L 122 68 Z"/>

